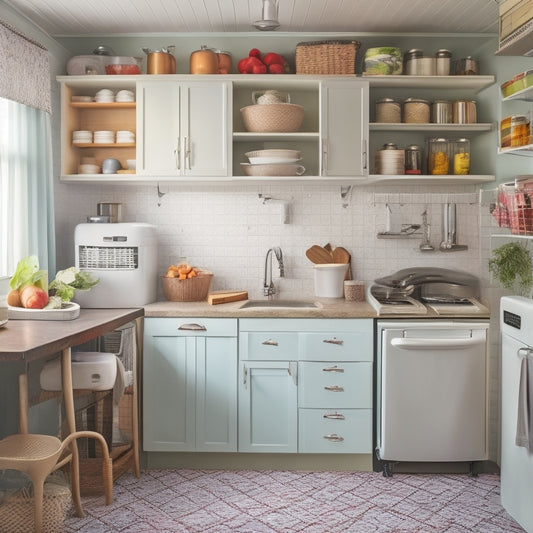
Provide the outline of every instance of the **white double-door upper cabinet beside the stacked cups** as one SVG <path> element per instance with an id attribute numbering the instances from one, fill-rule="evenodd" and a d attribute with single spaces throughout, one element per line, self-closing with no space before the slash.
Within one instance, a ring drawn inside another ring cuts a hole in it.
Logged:
<path id="1" fill-rule="evenodd" d="M 231 84 L 137 85 L 137 174 L 228 176 Z"/>

